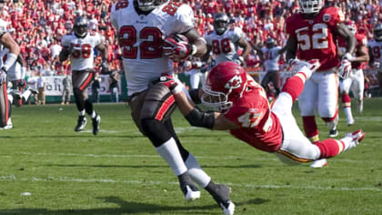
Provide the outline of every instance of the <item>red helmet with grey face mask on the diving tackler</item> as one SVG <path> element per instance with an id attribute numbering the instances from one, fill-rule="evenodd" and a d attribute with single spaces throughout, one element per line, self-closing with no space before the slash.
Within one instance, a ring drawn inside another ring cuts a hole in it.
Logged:
<path id="1" fill-rule="evenodd" d="M 246 71 L 234 62 L 222 62 L 208 73 L 202 103 L 218 111 L 228 110 L 246 90 Z"/>

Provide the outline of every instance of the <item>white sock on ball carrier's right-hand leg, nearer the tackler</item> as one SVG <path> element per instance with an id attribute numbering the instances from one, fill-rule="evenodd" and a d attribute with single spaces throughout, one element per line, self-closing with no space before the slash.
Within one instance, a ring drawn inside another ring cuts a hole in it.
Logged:
<path id="1" fill-rule="evenodd" d="M 191 153 L 189 153 L 188 158 L 186 159 L 186 167 L 191 179 L 193 179 L 201 188 L 206 188 L 209 181 L 211 181 L 211 177 L 209 177 L 199 166 L 196 158 Z"/>

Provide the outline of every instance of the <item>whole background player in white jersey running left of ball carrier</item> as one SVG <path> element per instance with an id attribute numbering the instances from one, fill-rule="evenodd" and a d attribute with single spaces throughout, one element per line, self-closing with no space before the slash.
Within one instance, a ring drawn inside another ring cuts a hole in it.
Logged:
<path id="1" fill-rule="evenodd" d="M 75 18 L 73 32 L 62 38 L 63 49 L 59 54 L 59 59 L 64 62 L 70 56 L 73 94 L 79 112 L 75 131 L 81 131 L 85 128 L 87 121 L 85 113 L 87 113 L 92 118 L 93 134 L 97 135 L 101 117 L 95 112 L 92 102 L 87 97 L 87 87 L 95 76 L 94 48 L 101 53 L 102 69 L 107 67 L 107 51 L 106 46 L 101 42 L 101 36 L 96 32 L 88 32 L 87 26 L 88 21 L 85 16 Z"/>

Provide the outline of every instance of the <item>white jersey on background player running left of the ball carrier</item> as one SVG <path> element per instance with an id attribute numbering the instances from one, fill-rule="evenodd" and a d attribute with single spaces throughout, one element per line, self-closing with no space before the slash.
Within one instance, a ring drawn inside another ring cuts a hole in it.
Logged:
<path id="1" fill-rule="evenodd" d="M 84 70 L 94 67 L 94 48 L 101 44 L 101 36 L 96 32 L 88 32 L 84 38 L 69 33 L 62 38 L 62 46 L 72 50 L 70 67 L 72 70 Z"/>

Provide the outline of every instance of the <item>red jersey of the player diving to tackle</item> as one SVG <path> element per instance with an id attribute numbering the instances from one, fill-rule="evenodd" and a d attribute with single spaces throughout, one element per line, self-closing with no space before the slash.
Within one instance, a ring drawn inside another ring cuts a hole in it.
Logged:
<path id="1" fill-rule="evenodd" d="M 267 152 L 276 152 L 283 141 L 280 121 L 271 112 L 266 92 L 255 81 L 250 90 L 234 102 L 225 116 L 240 126 L 230 133 L 248 145 Z"/>

